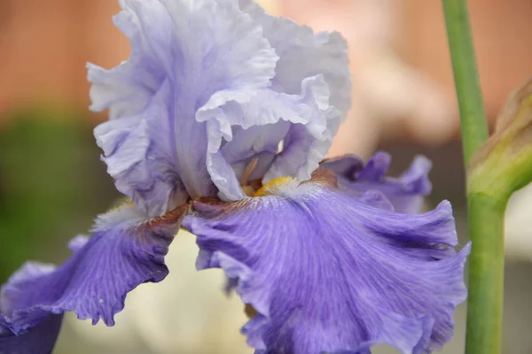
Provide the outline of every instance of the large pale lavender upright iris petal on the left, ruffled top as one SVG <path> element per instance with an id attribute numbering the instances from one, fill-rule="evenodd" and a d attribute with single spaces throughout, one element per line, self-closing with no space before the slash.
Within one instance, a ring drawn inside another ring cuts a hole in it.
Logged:
<path id="1" fill-rule="evenodd" d="M 91 108 L 109 108 L 112 119 L 95 135 L 117 188 L 144 212 L 162 215 L 184 191 L 216 193 L 207 172 L 208 122 L 196 113 L 249 102 L 270 86 L 278 56 L 233 0 L 121 5 L 115 23 L 132 54 L 111 70 L 89 66 Z"/>

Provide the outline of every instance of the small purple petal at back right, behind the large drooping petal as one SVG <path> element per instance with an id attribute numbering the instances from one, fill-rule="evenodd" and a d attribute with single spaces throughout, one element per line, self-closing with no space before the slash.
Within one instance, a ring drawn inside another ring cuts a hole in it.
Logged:
<path id="1" fill-rule="evenodd" d="M 428 173 L 432 163 L 428 158 L 417 156 L 411 166 L 398 178 L 387 177 L 391 157 L 378 152 L 364 165 L 356 155 L 327 159 L 320 164 L 336 173 L 341 186 L 356 192 L 376 189 L 394 205 L 396 212 L 418 213 L 423 207 L 423 197 L 432 189 Z"/>

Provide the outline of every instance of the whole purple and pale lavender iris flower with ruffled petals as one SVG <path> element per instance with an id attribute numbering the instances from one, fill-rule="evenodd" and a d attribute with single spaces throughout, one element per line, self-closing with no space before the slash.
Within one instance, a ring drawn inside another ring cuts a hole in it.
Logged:
<path id="1" fill-rule="evenodd" d="M 248 0 L 121 0 L 131 55 L 89 65 L 107 172 L 131 202 L 100 215 L 58 267 L 27 263 L 2 289 L 1 353 L 49 353 L 63 312 L 102 319 L 162 281 L 183 224 L 199 269 L 222 268 L 257 354 L 426 353 L 466 296 L 449 202 L 419 212 L 430 163 L 325 160 L 349 108 L 346 42 Z M 320 165 L 321 164 L 321 165 Z"/>

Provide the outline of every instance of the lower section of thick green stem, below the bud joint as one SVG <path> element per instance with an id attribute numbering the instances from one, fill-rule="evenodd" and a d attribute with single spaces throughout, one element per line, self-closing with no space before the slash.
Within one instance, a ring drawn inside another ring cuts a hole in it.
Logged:
<path id="1" fill-rule="evenodd" d="M 473 249 L 469 256 L 465 353 L 497 354 L 503 322 L 506 202 L 484 194 L 469 194 L 467 199 Z"/>

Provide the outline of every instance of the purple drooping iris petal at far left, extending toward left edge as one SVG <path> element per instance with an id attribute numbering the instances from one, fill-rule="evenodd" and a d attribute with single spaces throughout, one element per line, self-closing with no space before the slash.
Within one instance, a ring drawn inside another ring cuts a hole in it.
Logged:
<path id="1" fill-rule="evenodd" d="M 124 204 L 100 215 L 89 239 L 74 238 L 69 243 L 73 254 L 63 265 L 23 266 L 2 288 L 0 321 L 4 332 L 11 333 L 6 345 L 18 341 L 12 335 L 39 336 L 46 332 L 40 329 L 45 323 L 55 324 L 51 318 L 66 311 L 93 324 L 103 319 L 113 326 L 129 291 L 168 274 L 164 257 L 185 208 L 149 219 L 133 204 Z M 0 352 L 3 345 L 0 342 Z"/>

